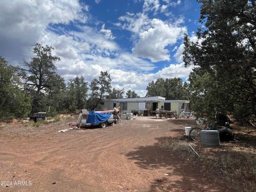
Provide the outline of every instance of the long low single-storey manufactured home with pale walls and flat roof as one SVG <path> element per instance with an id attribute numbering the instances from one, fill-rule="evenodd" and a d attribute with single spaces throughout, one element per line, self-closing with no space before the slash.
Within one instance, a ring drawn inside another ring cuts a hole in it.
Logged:
<path id="1" fill-rule="evenodd" d="M 165 100 L 164 97 L 143 97 L 143 98 L 122 98 L 122 99 L 103 99 L 100 103 L 102 109 L 113 109 L 121 106 L 122 113 L 131 113 L 132 110 L 163 109 L 166 111 L 188 112 L 189 100 Z"/>

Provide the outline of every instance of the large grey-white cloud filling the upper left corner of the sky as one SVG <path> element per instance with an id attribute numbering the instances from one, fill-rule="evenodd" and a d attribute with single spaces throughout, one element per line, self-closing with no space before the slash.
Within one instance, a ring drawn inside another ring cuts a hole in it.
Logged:
<path id="1" fill-rule="evenodd" d="M 0 1 L 1 54 L 13 64 L 22 57 L 29 58 L 28 47 L 38 42 L 50 23 L 85 23 L 85 7 L 78 0 Z"/>

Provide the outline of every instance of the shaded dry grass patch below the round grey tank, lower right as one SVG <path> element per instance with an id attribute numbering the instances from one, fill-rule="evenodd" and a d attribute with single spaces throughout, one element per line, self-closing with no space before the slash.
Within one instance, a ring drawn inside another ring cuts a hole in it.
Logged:
<path id="1" fill-rule="evenodd" d="M 178 153 L 181 161 L 199 167 L 204 177 L 210 177 L 216 183 L 226 183 L 235 191 L 256 191 L 256 149 L 254 143 L 248 142 L 221 143 L 219 147 L 190 142 L 200 158 L 186 141 L 169 138 L 160 144 L 166 150 Z"/>

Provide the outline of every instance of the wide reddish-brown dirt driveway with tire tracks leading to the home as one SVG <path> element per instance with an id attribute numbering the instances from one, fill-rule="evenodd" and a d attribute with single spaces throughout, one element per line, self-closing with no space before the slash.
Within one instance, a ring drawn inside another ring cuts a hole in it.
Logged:
<path id="1" fill-rule="evenodd" d="M 140 117 L 105 129 L 67 122 L 0 130 L 0 191 L 223 191 L 163 148 L 190 119 Z M 18 183 L 18 181 L 22 181 Z M 6 182 L 9 186 L 6 187 Z"/>

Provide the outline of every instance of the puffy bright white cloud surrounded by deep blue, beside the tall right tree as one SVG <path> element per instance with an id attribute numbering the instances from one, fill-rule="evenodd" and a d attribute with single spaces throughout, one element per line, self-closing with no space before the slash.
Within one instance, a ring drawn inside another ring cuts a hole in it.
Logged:
<path id="1" fill-rule="evenodd" d="M 138 1 L 136 1 L 138 2 Z M 165 1 L 162 5 L 161 12 L 169 14 L 167 8 L 180 4 L 181 1 Z M 133 54 L 150 59 L 153 62 L 170 60 L 169 47 L 177 43 L 178 39 L 183 38 L 187 28 L 180 25 L 185 22 L 184 17 L 179 17 L 172 21 L 166 22 L 159 19 L 150 20 L 147 11 L 158 11 L 160 9 L 159 1 L 144 1 L 142 13 L 127 12 L 124 16 L 119 17 L 119 22 L 115 23 L 117 27 L 132 32 Z"/>

